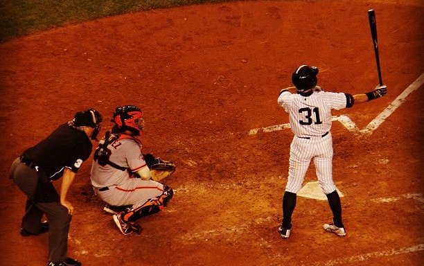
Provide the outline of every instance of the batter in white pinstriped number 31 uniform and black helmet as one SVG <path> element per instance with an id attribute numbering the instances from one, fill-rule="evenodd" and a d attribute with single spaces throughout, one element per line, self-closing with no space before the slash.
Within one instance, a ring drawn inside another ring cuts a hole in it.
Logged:
<path id="1" fill-rule="evenodd" d="M 297 193 L 312 159 L 319 185 L 333 212 L 333 222 L 324 224 L 324 229 L 337 236 L 346 236 L 342 204 L 333 181 L 331 110 L 350 108 L 354 104 L 365 103 L 387 93 L 385 85 L 378 85 L 369 93 L 353 96 L 326 92 L 317 86 L 317 74 L 317 67 L 301 65 L 292 73 L 294 87 L 281 90 L 278 98 L 279 105 L 289 114 L 290 127 L 294 134 L 290 145 L 288 182 L 283 195 L 283 222 L 279 227 L 282 238 L 290 236 Z"/>

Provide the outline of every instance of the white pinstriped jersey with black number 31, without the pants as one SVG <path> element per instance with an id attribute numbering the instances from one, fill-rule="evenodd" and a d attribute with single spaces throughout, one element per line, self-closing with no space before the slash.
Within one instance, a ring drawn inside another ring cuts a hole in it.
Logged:
<path id="1" fill-rule="evenodd" d="M 331 109 L 346 108 L 346 95 L 315 91 L 310 96 L 283 91 L 278 99 L 288 112 L 292 132 L 301 137 L 321 136 L 331 129 Z"/>

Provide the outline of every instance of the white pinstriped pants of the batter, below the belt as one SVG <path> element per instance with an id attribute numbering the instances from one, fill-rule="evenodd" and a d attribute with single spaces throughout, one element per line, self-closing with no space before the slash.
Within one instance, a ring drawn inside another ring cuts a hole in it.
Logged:
<path id="1" fill-rule="evenodd" d="M 330 132 L 324 137 L 313 136 L 310 139 L 294 136 L 290 145 L 290 163 L 285 191 L 296 194 L 299 192 L 312 159 L 319 185 L 324 193 L 332 193 L 336 189 L 333 181 L 333 139 Z"/>

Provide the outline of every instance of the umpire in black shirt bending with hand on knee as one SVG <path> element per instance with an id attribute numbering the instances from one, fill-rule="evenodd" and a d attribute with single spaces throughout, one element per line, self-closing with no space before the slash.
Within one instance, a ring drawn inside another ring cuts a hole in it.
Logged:
<path id="1" fill-rule="evenodd" d="M 73 206 L 67 193 L 83 161 L 91 154 L 90 139 L 96 139 L 102 117 L 95 109 L 77 112 L 43 141 L 25 150 L 13 161 L 10 178 L 28 197 L 21 235 L 48 231 L 48 266 L 81 265 L 67 256 Z M 60 195 L 52 181 L 62 179 Z M 48 222 L 42 222 L 43 214 Z"/>

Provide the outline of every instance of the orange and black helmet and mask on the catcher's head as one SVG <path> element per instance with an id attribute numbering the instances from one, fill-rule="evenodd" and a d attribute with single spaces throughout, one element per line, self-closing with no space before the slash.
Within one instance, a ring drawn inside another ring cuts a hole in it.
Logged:
<path id="1" fill-rule="evenodd" d="M 130 130 L 135 136 L 140 136 L 144 127 L 143 112 L 135 105 L 123 105 L 116 107 L 112 122 L 118 132 Z"/>

